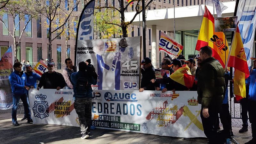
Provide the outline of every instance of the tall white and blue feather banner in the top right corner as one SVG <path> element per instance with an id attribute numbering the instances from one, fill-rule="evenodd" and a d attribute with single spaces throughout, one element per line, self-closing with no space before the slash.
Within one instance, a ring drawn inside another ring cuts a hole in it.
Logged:
<path id="1" fill-rule="evenodd" d="M 249 67 L 251 67 L 253 51 L 254 34 L 256 27 L 256 1 L 255 0 L 240 0 L 236 16 L 239 20 L 239 31 L 244 44 L 244 51 L 246 54 L 246 60 Z"/>

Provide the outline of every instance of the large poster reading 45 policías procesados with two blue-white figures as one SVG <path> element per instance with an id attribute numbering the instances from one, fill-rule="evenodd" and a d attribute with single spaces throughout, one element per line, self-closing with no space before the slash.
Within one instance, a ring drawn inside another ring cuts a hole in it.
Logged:
<path id="1" fill-rule="evenodd" d="M 78 40 L 76 65 L 91 59 L 98 76 L 92 89 L 139 89 L 141 37 Z"/>

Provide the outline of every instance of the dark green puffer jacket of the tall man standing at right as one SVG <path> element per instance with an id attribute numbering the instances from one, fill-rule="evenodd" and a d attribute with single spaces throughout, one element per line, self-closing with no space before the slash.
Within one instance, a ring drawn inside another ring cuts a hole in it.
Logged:
<path id="1" fill-rule="evenodd" d="M 225 95 L 224 69 L 213 57 L 205 59 L 197 76 L 197 100 L 202 108 L 220 110 Z"/>

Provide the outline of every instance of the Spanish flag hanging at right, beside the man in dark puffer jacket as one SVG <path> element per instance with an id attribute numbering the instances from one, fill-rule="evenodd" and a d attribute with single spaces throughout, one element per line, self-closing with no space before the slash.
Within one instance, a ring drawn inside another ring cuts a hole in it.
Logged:
<path id="1" fill-rule="evenodd" d="M 234 94 L 236 95 L 236 100 L 239 101 L 246 97 L 245 91 L 245 79 L 250 75 L 246 55 L 244 52 L 244 45 L 239 32 L 238 24 L 236 27 L 236 32 L 234 34 L 234 39 L 231 44 L 230 54 L 228 57 L 228 66 L 235 68 L 234 73 Z"/>

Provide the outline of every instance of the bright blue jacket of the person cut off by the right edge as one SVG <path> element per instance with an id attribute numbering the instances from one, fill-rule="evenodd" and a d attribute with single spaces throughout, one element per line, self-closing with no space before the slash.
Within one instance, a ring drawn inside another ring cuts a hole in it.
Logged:
<path id="1" fill-rule="evenodd" d="M 248 100 L 256 101 L 256 69 L 254 69 L 249 78 L 246 80 L 246 84 L 249 85 L 249 95 L 248 95 Z"/>

